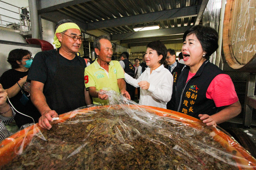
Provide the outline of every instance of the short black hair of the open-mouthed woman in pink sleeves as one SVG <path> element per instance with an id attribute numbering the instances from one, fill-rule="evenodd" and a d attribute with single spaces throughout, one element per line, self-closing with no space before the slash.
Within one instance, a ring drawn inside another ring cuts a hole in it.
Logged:
<path id="1" fill-rule="evenodd" d="M 215 29 L 202 25 L 193 26 L 184 33 L 183 41 L 191 34 L 195 34 L 206 52 L 204 58 L 209 59 L 212 53 L 218 49 L 218 33 Z"/>

